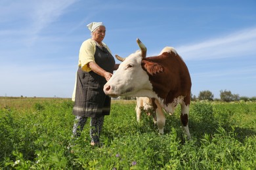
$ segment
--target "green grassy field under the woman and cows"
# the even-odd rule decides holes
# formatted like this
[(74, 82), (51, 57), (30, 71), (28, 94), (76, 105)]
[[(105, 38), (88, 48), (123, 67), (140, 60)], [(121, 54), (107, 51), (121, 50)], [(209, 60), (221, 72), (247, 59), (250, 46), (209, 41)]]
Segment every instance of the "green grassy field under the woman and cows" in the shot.
[(72, 139), (70, 99), (0, 97), (0, 168), (256, 169), (256, 103), (193, 102), (190, 141), (179, 107), (166, 114), (159, 135), (151, 117), (136, 121), (135, 105), (112, 100), (97, 148), (89, 144), (89, 122)]

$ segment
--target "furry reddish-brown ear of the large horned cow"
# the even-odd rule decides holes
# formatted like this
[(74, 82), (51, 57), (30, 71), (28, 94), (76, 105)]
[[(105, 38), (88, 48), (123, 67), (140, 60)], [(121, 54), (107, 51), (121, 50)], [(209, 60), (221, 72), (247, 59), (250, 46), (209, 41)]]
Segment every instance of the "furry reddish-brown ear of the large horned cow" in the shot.
[(142, 68), (150, 75), (156, 75), (157, 73), (163, 72), (163, 66), (146, 59), (142, 59), (141, 65)]

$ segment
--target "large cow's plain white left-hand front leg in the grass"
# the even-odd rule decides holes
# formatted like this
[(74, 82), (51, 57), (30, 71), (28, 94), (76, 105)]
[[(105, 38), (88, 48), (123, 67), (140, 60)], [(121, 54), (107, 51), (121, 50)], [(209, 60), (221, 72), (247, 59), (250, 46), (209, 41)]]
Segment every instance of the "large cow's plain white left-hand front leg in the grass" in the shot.
[(163, 114), (163, 109), (161, 109), (161, 105), (158, 100), (154, 100), (157, 105), (156, 108), (156, 124), (158, 124), (159, 133), (163, 134), (163, 128), (165, 126), (165, 115)]

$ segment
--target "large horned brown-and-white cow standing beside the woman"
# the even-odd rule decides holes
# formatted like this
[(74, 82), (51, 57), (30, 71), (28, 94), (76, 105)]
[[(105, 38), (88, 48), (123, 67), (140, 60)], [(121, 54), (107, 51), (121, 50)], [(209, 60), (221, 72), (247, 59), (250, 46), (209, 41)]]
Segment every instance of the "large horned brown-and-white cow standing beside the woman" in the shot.
[(173, 113), (181, 104), (181, 122), (190, 139), (188, 112), (190, 105), (191, 79), (186, 64), (172, 47), (165, 47), (158, 56), (146, 58), (146, 46), (137, 39), (140, 50), (130, 54), (116, 73), (104, 85), (106, 95), (150, 97), (155, 99), (159, 133), (163, 133), (166, 112)]

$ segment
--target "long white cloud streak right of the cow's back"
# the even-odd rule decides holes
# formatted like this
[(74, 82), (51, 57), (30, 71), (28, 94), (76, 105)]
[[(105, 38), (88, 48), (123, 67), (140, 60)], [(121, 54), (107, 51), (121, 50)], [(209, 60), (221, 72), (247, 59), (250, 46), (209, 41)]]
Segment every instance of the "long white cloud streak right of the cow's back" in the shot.
[(255, 46), (256, 28), (252, 28), (198, 44), (179, 46), (177, 51), (185, 60), (218, 59), (256, 54)]

